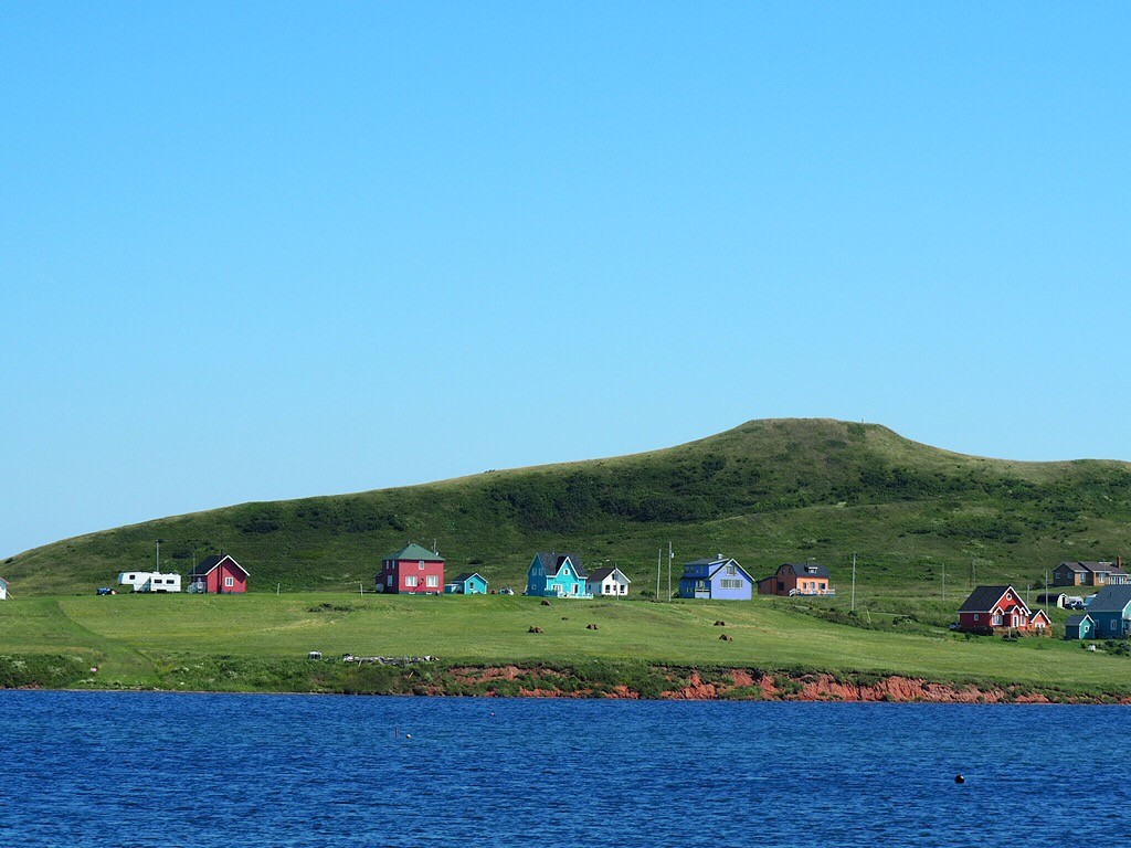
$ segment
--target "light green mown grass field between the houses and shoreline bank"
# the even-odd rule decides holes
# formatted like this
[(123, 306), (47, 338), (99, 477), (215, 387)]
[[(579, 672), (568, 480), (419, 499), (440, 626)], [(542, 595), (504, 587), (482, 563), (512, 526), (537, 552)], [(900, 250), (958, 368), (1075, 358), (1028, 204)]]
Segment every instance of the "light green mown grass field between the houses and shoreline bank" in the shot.
[[(299, 660), (320, 650), (328, 658), (349, 652), (434, 655), (449, 664), (477, 665), (640, 661), (1131, 693), (1131, 659), (1089, 654), (1079, 642), (1053, 639), (967, 639), (934, 623), (943, 621), (942, 613), (939, 605), (921, 605), (915, 617), (900, 622), (869, 611), (860, 616), (865, 626), (853, 626), (774, 598), (714, 604), (554, 600), (542, 606), (539, 599), (521, 596), (337, 592), (33, 597), (3, 604), (0, 655), (79, 657), (100, 667), (81, 684), (90, 686), (257, 689), (254, 682), (208, 677), (208, 669), (216, 658)], [(726, 626), (715, 626), (716, 620)], [(867, 628), (869, 621), (875, 629)], [(587, 630), (590, 623), (599, 629)], [(544, 632), (528, 633), (532, 625)], [(722, 632), (734, 641), (720, 641)], [(192, 670), (195, 664), (202, 664), (200, 670)]]

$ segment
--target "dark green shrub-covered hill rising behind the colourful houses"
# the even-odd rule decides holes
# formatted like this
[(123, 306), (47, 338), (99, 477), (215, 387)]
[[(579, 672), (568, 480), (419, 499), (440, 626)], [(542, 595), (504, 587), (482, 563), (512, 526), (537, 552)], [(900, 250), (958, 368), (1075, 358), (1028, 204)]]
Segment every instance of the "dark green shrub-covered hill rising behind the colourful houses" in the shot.
[[(1037, 585), (1062, 560), (1128, 551), (1131, 466), (1015, 462), (918, 444), (870, 424), (754, 421), (689, 444), (615, 459), (487, 471), (404, 488), (247, 503), (64, 539), (0, 569), (16, 596), (87, 594), (123, 569), (166, 570), (224, 551), (254, 590), (371, 585), (381, 556), (438, 542), (451, 573), (520, 586), (536, 550), (615, 564), (654, 586), (656, 553), (725, 552), (763, 576), (813, 559), (861, 598)], [(666, 582), (665, 582), (666, 589)], [(948, 592), (950, 594), (950, 592)]]

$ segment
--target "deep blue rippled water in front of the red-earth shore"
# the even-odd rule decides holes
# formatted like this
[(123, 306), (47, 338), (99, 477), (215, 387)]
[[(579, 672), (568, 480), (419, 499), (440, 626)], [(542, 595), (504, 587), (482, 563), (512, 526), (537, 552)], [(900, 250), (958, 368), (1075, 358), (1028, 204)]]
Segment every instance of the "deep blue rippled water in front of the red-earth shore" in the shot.
[(1129, 719), (0, 691), (0, 846), (1122, 846)]

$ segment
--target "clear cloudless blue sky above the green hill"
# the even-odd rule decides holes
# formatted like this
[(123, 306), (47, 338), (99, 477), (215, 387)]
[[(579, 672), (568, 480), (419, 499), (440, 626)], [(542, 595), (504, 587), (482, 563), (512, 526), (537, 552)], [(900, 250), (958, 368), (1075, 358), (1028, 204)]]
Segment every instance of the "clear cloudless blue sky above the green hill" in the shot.
[(6, 3), (0, 553), (761, 417), (1131, 459), (1125, 3)]

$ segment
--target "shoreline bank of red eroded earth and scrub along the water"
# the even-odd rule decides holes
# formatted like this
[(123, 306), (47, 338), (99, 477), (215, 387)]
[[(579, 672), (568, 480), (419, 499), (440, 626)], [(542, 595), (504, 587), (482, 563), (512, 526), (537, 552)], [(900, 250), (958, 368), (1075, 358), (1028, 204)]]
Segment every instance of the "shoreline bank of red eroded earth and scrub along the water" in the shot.
[[(15, 659), (15, 658), (11, 658)], [(58, 670), (61, 658), (53, 668)], [(938, 681), (903, 674), (674, 666), (632, 661), (594, 664), (447, 663), (357, 665), (339, 660), (277, 660), (261, 665), (225, 658), (198, 676), (184, 666), (152, 682), (92, 677), (72, 665), (66, 677), (23, 680), (0, 689), (189, 694), (338, 694), (428, 698), (543, 698), (649, 701), (779, 701), (798, 703), (1131, 704), (1128, 691), (1067, 690), (993, 681)], [(3, 669), (0, 669), (3, 670)], [(29, 669), (31, 670), (31, 669)]]

